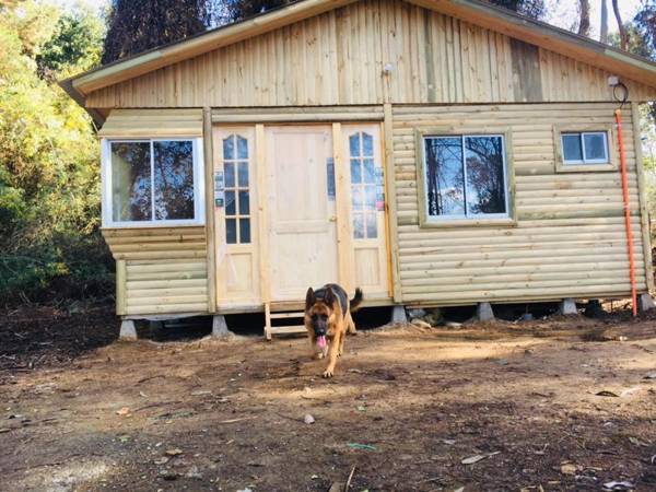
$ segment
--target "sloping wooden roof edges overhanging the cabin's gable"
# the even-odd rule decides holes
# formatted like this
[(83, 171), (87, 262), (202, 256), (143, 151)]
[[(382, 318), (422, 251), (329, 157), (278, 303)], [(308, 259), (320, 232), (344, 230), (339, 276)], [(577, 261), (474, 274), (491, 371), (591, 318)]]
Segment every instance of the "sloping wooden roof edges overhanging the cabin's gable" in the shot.
[[(254, 17), (118, 60), (73, 78), (60, 85), (77, 102), (93, 91), (113, 85), (259, 34), (319, 15), (359, 0), (302, 0)], [(656, 63), (593, 39), (525, 17), (479, 0), (405, 0), (480, 27), (546, 48), (578, 61), (656, 87)], [(93, 115), (92, 115), (93, 116)], [(97, 115), (96, 115), (97, 116)]]

